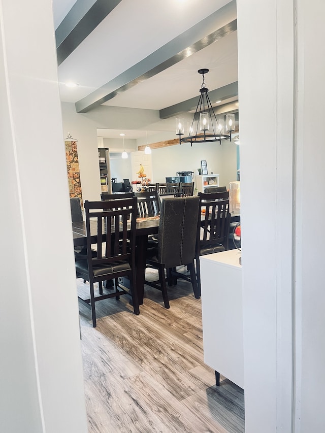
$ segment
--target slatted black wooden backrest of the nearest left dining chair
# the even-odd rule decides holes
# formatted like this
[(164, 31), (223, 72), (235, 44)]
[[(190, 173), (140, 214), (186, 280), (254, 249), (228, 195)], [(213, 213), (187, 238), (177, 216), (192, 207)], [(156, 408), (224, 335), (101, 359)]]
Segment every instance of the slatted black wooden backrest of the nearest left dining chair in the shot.
[[(135, 265), (135, 230), (137, 198), (125, 198), (102, 202), (85, 201), (87, 229), (87, 260), (89, 277), (95, 275), (96, 266), (116, 261), (128, 261)], [(118, 236), (115, 234), (118, 233)], [(94, 238), (95, 236), (95, 238)], [(96, 256), (91, 250), (96, 245)]]

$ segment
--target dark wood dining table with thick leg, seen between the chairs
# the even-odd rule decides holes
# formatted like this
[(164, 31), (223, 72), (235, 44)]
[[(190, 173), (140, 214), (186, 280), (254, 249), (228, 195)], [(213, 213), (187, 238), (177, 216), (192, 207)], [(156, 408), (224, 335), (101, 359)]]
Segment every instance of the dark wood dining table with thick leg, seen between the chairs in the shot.
[[(97, 228), (95, 222), (91, 224), (90, 232), (93, 232), (92, 241), (96, 242)], [(139, 305), (143, 304), (144, 280), (146, 273), (146, 251), (148, 236), (158, 233), (159, 216), (143, 216), (137, 218), (136, 225), (136, 290), (138, 292)], [(87, 245), (86, 224), (82, 222), (72, 223), (73, 242), (75, 247)], [(92, 236), (92, 235), (91, 235)]]

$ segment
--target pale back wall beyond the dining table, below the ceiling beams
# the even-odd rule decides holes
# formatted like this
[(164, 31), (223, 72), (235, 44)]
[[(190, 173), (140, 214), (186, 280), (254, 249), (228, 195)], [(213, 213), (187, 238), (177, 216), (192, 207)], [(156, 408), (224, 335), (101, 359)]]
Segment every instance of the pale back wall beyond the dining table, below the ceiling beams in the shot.
[[(124, 125), (120, 128), (125, 130), (141, 129), (152, 119), (155, 119), (158, 112), (152, 110), (121, 109), (116, 107), (115, 111), (108, 111), (112, 107), (99, 107), (86, 114), (77, 114), (74, 104), (62, 103), (63, 130), (78, 139), (78, 156), (80, 165), (80, 179), (83, 199), (99, 199), (100, 196), (100, 173), (98, 164), (98, 140), (95, 138), (96, 128), (105, 127), (116, 129), (121, 123), (119, 116), (122, 117)], [(124, 111), (123, 111), (124, 110)], [(136, 114), (137, 113), (137, 114)], [(138, 124), (135, 124), (135, 119)], [(113, 126), (114, 124), (114, 126)], [(174, 131), (157, 132), (155, 135), (148, 136), (148, 144), (165, 140), (175, 139)], [(123, 140), (106, 139), (103, 140), (104, 147), (123, 148)], [(146, 140), (124, 139), (124, 146), (127, 151), (138, 149), (138, 146), (146, 144)], [(201, 160), (207, 160), (208, 171), (220, 175), (220, 185), (229, 186), (229, 182), (237, 179), (237, 145), (232, 141), (224, 140), (221, 145), (213, 143), (169, 146), (166, 148), (152, 150), (152, 182), (166, 182), (166, 176), (176, 176), (178, 171), (192, 171), (194, 176), (198, 175), (197, 169), (201, 167)], [(112, 157), (111, 175), (118, 181), (124, 178), (132, 179), (131, 165), (118, 161)], [(129, 171), (128, 171), (129, 169)], [(89, 197), (89, 198), (88, 198)]]

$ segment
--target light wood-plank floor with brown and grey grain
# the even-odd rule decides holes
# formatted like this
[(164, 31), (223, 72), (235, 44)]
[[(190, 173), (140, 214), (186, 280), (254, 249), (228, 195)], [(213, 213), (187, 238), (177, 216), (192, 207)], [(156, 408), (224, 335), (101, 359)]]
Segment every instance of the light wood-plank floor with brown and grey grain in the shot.
[(244, 391), (222, 376), (215, 386), (203, 362), (201, 300), (178, 281), (169, 287), (169, 310), (148, 286), (139, 316), (125, 295), (96, 303), (96, 328), (79, 304), (89, 433), (245, 430)]

